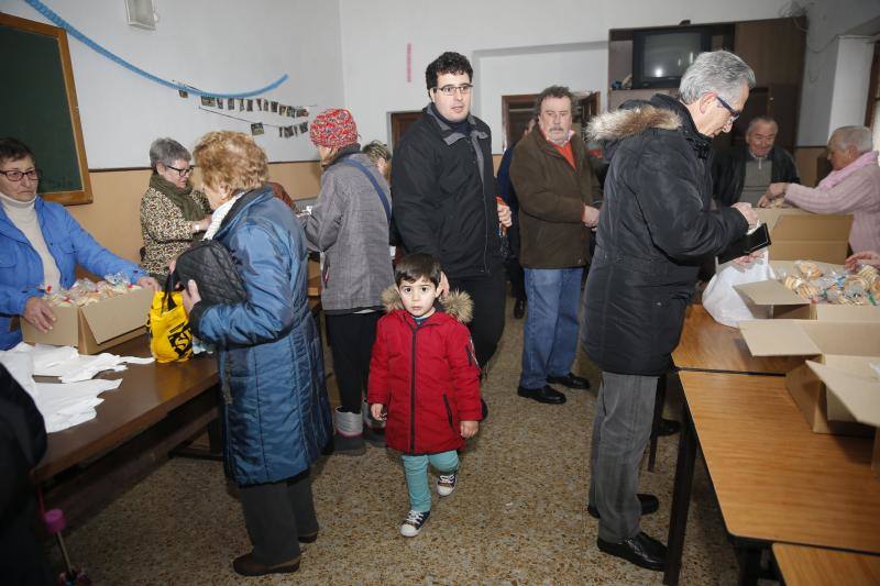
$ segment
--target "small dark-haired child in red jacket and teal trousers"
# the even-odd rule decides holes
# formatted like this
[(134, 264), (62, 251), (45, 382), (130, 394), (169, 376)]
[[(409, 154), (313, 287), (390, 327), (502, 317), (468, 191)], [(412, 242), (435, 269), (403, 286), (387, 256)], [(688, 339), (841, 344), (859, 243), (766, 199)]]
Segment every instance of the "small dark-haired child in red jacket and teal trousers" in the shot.
[(367, 402), (384, 419), (385, 442), (403, 452), (409, 515), (400, 533), (419, 534), (431, 511), (428, 464), (438, 472), (437, 493), (452, 494), (458, 450), (476, 434), (482, 419), (480, 366), (464, 325), (473, 303), (452, 292), (435, 308), (440, 263), (410, 254), (394, 270), (396, 287), (383, 294), (387, 316), (378, 321), (370, 363)]

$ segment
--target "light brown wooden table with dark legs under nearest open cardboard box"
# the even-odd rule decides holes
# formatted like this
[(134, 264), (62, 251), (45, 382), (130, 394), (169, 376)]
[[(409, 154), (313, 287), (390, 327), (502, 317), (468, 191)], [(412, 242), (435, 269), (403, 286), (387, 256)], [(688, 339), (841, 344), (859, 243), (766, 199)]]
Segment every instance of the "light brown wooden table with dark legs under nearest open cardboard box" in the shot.
[(813, 433), (778, 376), (682, 372), (684, 419), (664, 582), (676, 584), (696, 445), (725, 528), (752, 584), (760, 552), (789, 542), (880, 553), (872, 444)]

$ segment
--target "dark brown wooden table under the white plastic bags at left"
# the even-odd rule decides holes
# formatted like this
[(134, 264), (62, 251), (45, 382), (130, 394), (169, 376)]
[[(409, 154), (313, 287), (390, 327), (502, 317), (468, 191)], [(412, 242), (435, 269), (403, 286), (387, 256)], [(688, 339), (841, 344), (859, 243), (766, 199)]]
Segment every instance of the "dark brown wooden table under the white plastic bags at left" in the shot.
[[(122, 356), (150, 356), (145, 335), (112, 351)], [(219, 380), (215, 356), (197, 356), (185, 363), (130, 365), (127, 371), (105, 373), (100, 377), (122, 378), (122, 384), (101, 395), (103, 402), (96, 408), (98, 417), (48, 435), (46, 455), (35, 471), (37, 480), (117, 447)]]

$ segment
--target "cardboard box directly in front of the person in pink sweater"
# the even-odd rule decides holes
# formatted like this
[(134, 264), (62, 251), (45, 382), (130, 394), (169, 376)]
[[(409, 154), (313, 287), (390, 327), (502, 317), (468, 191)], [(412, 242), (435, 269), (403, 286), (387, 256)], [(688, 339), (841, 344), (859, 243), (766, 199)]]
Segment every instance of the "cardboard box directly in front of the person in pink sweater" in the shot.
[(818, 214), (798, 208), (760, 208), (755, 211), (770, 229), (771, 259), (812, 258), (837, 264), (846, 261), (851, 214)]

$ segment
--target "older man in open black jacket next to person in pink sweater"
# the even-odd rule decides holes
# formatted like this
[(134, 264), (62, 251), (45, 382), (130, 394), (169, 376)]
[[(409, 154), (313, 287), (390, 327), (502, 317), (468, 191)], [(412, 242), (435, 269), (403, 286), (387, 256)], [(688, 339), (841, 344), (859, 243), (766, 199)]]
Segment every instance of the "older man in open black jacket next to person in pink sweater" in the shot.
[(746, 144), (716, 154), (712, 162), (715, 201), (758, 203), (767, 186), (784, 181), (800, 184), (791, 153), (776, 145), (779, 125), (769, 115), (755, 117), (746, 130)]

